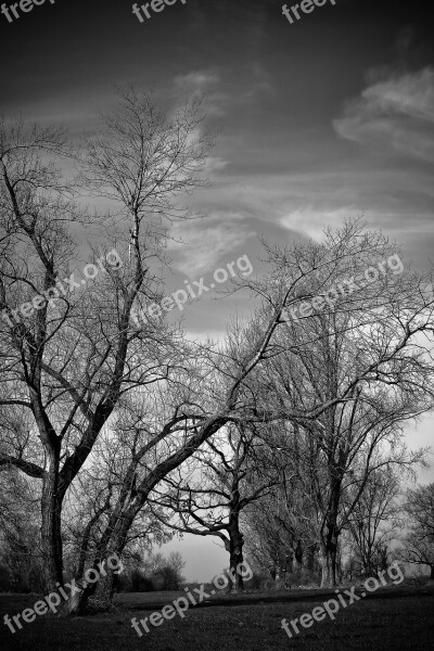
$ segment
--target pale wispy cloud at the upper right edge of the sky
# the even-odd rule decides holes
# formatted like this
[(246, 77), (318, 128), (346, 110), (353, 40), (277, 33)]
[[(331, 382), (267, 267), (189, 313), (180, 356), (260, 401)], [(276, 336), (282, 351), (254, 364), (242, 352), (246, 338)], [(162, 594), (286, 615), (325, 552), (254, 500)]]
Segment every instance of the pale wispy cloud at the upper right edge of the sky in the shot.
[(434, 69), (392, 76), (368, 86), (333, 120), (337, 133), (371, 146), (434, 162)]

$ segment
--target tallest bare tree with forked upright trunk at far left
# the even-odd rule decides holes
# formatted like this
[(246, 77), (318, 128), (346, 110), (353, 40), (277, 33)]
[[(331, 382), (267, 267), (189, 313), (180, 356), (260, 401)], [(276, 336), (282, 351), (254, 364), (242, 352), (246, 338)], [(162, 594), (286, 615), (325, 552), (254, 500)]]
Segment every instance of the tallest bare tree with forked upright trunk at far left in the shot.
[(79, 257), (73, 229), (85, 216), (52, 159), (65, 152), (62, 133), (0, 124), (0, 405), (20, 406), (33, 420), (28, 445), (10, 438), (0, 465), (41, 480), (51, 590), (62, 584), (68, 488), (119, 398), (166, 379), (174, 363), (170, 329), (149, 318), (138, 330), (130, 316), (158, 295), (152, 269), (164, 245), (161, 220), (177, 213), (177, 196), (203, 182), (209, 142), (201, 119), (196, 104), (168, 116), (149, 95), (129, 90), (106, 118), (106, 136), (88, 143), (81, 182), (112, 200), (113, 209), (84, 284), (71, 271)]

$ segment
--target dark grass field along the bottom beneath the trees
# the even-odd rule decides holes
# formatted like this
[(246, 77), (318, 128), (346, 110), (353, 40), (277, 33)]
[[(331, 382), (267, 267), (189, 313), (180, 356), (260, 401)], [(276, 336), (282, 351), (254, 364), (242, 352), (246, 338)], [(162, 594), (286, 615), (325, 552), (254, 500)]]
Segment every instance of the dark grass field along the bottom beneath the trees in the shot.
[[(179, 593), (180, 596), (181, 593)], [(186, 617), (164, 622), (138, 637), (131, 617), (149, 616), (176, 595), (125, 596), (116, 611), (71, 620), (37, 617), (14, 635), (3, 614), (30, 608), (36, 597), (0, 595), (0, 648), (8, 651), (431, 651), (434, 648), (434, 588), (396, 586), (379, 590), (329, 618), (302, 629), (291, 640), (281, 628), (288, 621), (310, 613), (333, 593), (285, 592), (240, 596), (190, 609)], [(271, 602), (269, 601), (271, 600)]]

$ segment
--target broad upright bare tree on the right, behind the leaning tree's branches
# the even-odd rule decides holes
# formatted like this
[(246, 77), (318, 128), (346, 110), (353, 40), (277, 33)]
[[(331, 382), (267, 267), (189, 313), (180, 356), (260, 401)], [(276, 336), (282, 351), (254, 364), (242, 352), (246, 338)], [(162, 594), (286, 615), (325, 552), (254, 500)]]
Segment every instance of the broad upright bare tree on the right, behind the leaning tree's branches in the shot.
[[(302, 291), (293, 303), (306, 305), (299, 314), (282, 310), (285, 334), (276, 335), (244, 395), (276, 413), (285, 407), (308, 412), (318, 403), (329, 406), (317, 419), (293, 420), (293, 425), (305, 446), (307, 468), (301, 477), (315, 507), (322, 585), (335, 585), (339, 537), (370, 475), (390, 463), (408, 467), (423, 458), (423, 451), (407, 454), (403, 425), (433, 404), (432, 305), (422, 295), (423, 279), (404, 272), (388, 241), (361, 233), (357, 221), (329, 233), (321, 244), (273, 248), (269, 256), (271, 273), (251, 281), (253, 291), (264, 296), (268, 310), (279, 310), (288, 304), (295, 277)], [(370, 271), (385, 260), (390, 276)], [(371, 278), (356, 294), (347, 292), (360, 276), (375, 276), (375, 282)], [(335, 289), (328, 301), (324, 285), (342, 291)], [(245, 340), (254, 339), (255, 331)], [(381, 462), (379, 451), (386, 452)], [(349, 492), (353, 498), (344, 506)]]

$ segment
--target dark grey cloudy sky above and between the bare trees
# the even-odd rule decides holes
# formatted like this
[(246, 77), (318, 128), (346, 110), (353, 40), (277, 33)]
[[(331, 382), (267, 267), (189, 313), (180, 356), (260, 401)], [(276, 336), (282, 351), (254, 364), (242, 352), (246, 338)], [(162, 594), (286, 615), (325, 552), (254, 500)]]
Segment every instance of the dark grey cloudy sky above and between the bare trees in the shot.
[[(206, 127), (217, 132), (210, 186), (191, 197), (204, 217), (173, 227), (183, 243), (170, 245), (170, 286), (245, 254), (256, 272), (258, 237), (320, 238), (358, 215), (427, 266), (432, 0), (327, 1), (293, 24), (277, 0), (177, 0), (150, 13), (141, 23), (129, 0), (46, 0), (12, 23), (0, 14), (0, 107), (62, 123), (75, 139), (94, 133), (114, 85), (153, 88), (166, 103), (204, 95)], [(221, 336), (231, 311), (248, 307), (215, 298), (186, 307), (192, 335)], [(411, 427), (409, 445), (430, 445), (432, 425), (426, 417)], [(433, 471), (420, 477), (433, 481)], [(189, 577), (219, 572), (225, 553), (193, 544), (181, 549)]]

